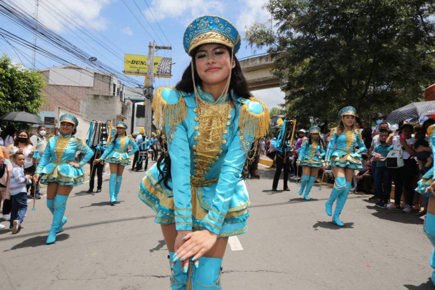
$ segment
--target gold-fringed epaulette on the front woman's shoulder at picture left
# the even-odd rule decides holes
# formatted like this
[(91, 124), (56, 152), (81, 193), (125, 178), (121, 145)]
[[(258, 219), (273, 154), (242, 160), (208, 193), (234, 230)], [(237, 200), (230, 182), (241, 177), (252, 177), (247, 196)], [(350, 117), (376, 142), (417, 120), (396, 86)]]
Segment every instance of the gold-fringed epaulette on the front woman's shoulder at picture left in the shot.
[(164, 126), (172, 127), (185, 119), (187, 106), (181, 93), (177, 90), (179, 94), (178, 101), (176, 103), (168, 103), (161, 95), (162, 90), (168, 88), (176, 90), (174, 87), (170, 86), (163, 86), (156, 89), (151, 107), (154, 111), (155, 120), (158, 123), (162, 122)]

